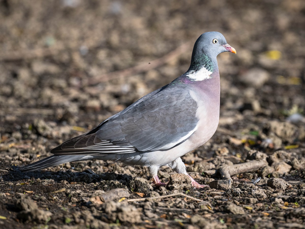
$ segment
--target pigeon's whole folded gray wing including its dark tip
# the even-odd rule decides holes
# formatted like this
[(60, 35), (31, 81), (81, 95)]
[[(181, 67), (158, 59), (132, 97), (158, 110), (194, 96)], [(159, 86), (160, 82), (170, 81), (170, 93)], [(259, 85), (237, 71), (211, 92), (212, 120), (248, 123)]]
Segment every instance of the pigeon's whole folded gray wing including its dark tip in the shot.
[(197, 103), (187, 89), (161, 89), (51, 152), (102, 155), (167, 150), (195, 132), (196, 111)]

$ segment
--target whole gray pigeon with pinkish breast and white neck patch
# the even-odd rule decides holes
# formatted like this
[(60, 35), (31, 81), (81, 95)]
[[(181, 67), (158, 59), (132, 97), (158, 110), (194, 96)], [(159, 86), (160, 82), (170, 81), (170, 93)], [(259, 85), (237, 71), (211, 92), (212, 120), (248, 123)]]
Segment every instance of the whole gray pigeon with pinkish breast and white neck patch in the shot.
[[(189, 176), (181, 156), (206, 143), (218, 126), (220, 76), (216, 57), (222, 52), (236, 54), (221, 33), (203, 33), (183, 75), (52, 149), (54, 155), (20, 170), (99, 159), (146, 166), (156, 187), (166, 186), (158, 177), (161, 166)], [(193, 187), (206, 186), (189, 177)]]

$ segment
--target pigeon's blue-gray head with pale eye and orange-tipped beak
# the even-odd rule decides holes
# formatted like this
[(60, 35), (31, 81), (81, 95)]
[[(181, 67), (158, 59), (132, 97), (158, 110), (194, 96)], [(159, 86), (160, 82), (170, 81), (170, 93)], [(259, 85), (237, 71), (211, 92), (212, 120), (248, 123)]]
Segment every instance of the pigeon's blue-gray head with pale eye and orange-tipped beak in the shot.
[(227, 44), (226, 38), (219, 32), (206, 32), (202, 34), (195, 42), (191, 66), (199, 64), (200, 60), (208, 57), (210, 60), (216, 60), (219, 53), (232, 52), (236, 50)]

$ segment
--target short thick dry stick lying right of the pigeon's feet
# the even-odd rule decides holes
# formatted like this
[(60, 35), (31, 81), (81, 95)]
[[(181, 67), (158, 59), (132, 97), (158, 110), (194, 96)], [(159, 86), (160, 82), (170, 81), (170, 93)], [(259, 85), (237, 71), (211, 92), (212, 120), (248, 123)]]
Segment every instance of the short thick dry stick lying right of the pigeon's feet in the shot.
[(207, 170), (207, 171), (204, 171), (204, 173), (211, 175), (211, 176), (216, 176), (217, 173), (220, 173), (222, 179), (228, 180), (228, 179), (231, 179), (232, 175), (250, 172), (250, 171), (256, 171), (257, 169), (260, 169), (261, 167), (264, 167), (266, 165), (268, 165), (266, 159), (254, 160), (251, 162), (223, 166), (217, 170), (214, 170), (214, 169)]

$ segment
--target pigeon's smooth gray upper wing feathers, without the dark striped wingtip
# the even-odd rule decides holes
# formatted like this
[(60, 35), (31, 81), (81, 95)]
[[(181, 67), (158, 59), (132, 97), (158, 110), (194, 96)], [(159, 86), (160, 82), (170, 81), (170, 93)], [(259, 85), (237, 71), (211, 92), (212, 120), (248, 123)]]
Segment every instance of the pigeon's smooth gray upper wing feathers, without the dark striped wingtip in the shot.
[[(196, 111), (197, 103), (187, 90), (162, 91), (105, 123), (96, 135), (110, 142), (123, 137), (138, 151), (163, 150), (186, 140), (183, 137), (198, 123)], [(113, 133), (117, 125), (119, 131)]]

